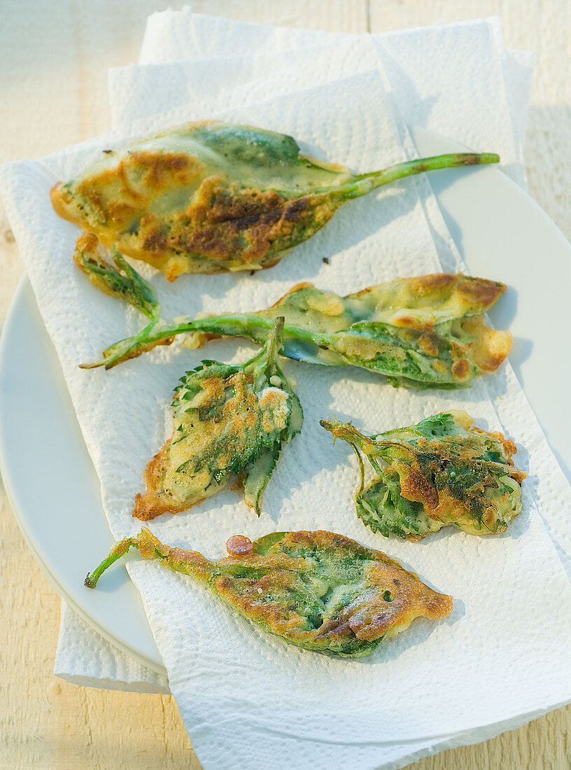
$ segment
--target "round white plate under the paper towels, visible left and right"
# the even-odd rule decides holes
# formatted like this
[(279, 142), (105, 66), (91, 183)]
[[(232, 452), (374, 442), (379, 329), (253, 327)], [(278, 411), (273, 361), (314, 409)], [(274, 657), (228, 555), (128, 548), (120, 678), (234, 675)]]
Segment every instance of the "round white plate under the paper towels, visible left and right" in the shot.
[[(424, 130), (416, 129), (414, 136), (421, 156), (463, 149)], [(440, 171), (431, 182), (470, 273), (510, 287), (490, 316), (496, 327), (513, 332), (509, 359), (571, 479), (569, 420), (562, 419), (571, 358), (561, 342), (571, 246), (498, 169)], [(0, 464), (18, 524), (55, 590), (112, 644), (165, 674), (139, 592), (125, 569), (110, 571), (98, 591), (83, 585), (112, 537), (99, 480), (26, 279), (0, 341)]]

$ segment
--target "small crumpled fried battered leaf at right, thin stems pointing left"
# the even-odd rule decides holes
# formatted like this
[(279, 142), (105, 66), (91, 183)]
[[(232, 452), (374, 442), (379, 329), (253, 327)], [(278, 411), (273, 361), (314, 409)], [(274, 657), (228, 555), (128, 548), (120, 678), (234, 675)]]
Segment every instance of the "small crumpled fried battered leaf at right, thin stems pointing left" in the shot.
[[(513, 464), (516, 445), (474, 427), (466, 412), (435, 414), (378, 436), (350, 423), (321, 424), (359, 458), (357, 515), (373, 532), (420, 540), (455, 524), (468, 534), (494, 534), (521, 511), (526, 474)], [(378, 474), (367, 487), (362, 456)]]

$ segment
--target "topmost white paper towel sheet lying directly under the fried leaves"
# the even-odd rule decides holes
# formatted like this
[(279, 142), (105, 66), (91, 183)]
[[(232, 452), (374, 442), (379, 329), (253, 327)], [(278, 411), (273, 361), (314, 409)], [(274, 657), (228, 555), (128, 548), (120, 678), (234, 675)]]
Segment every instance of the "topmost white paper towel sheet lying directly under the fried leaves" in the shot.
[[(366, 116), (356, 109), (362, 103), (369, 108)], [(286, 130), (306, 142), (304, 149), (360, 170), (403, 154), (379, 75), (371, 73), (223, 117)], [(56, 179), (71, 176), (112, 144), (106, 137), (43, 162), (12, 164), (2, 192), (102, 480), (110, 527), (119, 536), (139, 529), (129, 511), (145, 462), (165, 437), (165, 402), (182, 370), (199, 356), (173, 346), (109, 372), (76, 368), (140, 325), (134, 313), (72, 268), (76, 229), (48, 203)], [(160, 276), (154, 280), (165, 298), (165, 317), (265, 306), (303, 278), (330, 290), (356, 290), (439, 269), (425, 223), (414, 188), (405, 181), (349, 203), (322, 233), (261, 276), (186, 276), (175, 286)], [(323, 256), (331, 258), (329, 266)], [(245, 355), (244, 348), (235, 351), (235, 341), (221, 342), (205, 355)], [(184, 577), (132, 561), (130, 573), (205, 767), (309, 762), (319, 768), (345, 760), (373, 768), (389, 758), (386, 742), (418, 746), (496, 721), (507, 727), (571, 698), (571, 589), (527, 488), (524, 513), (509, 533), (493, 540), (457, 533), (426, 544), (384, 541), (356, 519), (355, 467), (345, 448), (332, 447), (319, 427), (319, 418), (334, 412), (366, 430), (382, 430), (446, 409), (451, 401), (468, 408), (480, 424), (499, 427), (483, 383), (451, 399), (450, 393), (392, 390), (361, 370), (295, 363), (289, 369), (299, 379), (306, 423), (272, 478), (262, 517), (252, 517), (226, 491), (187, 514), (153, 521), (152, 530), (163, 541), (209, 556), (221, 554), (225, 538), (237, 531), (252, 537), (289, 528), (342, 531), (388, 550), (435, 588), (452, 593), (455, 610), (440, 624), (416, 623), (369, 659), (336, 661), (268, 638)], [(487, 737), (487, 728), (480, 734)]]

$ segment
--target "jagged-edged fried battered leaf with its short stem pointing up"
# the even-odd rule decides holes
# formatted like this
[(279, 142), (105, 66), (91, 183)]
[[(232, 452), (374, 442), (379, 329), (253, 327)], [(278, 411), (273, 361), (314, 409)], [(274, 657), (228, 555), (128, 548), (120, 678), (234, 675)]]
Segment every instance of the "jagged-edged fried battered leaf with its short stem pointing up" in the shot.
[(282, 445), (302, 428), (302, 407), (278, 363), (283, 318), (262, 350), (241, 367), (218, 361), (181, 378), (172, 401), (172, 437), (145, 470), (147, 491), (133, 516), (179, 513), (218, 492), (235, 475), (259, 514)]

